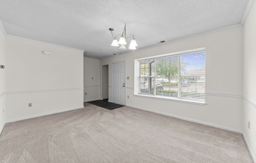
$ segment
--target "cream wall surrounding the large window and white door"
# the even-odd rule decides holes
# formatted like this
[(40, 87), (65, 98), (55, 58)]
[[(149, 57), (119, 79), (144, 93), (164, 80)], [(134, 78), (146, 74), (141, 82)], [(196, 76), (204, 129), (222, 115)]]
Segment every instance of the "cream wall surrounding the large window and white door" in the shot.
[[(206, 51), (205, 101), (207, 105), (199, 106), (133, 95), (134, 59), (201, 47), (205, 47)], [(112, 63), (126, 62), (126, 76), (130, 77), (126, 80), (126, 97), (130, 96), (126, 99), (128, 106), (241, 132), (242, 54), (243, 27), (236, 27), (105, 58), (100, 64), (109, 65), (109, 85), (112, 85)], [(108, 96), (111, 101), (111, 87)]]

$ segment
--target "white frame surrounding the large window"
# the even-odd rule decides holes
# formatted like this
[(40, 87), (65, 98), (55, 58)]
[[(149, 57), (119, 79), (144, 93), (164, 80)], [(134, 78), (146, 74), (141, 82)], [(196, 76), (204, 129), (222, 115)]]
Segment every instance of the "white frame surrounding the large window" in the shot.
[[(176, 53), (168, 53), (168, 54), (162, 54), (162, 55), (157, 55), (157, 56), (151, 56), (151, 57), (146, 57), (146, 58), (139, 58), (134, 60), (134, 96), (138, 97), (143, 97), (143, 98), (152, 98), (152, 99), (158, 99), (158, 100), (168, 100), (168, 101), (176, 101), (176, 102), (181, 102), (181, 103), (190, 103), (190, 104), (195, 104), (195, 105), (205, 105), (205, 99), (203, 100), (198, 100), (198, 99), (188, 99), (188, 98), (180, 98), (180, 97), (168, 97), (168, 96), (156, 96), (155, 94), (150, 95), (150, 94), (140, 94), (139, 93), (139, 62), (141, 60), (148, 60), (152, 58), (160, 58), (160, 57), (166, 57), (166, 56), (171, 56), (171, 55), (181, 55), (181, 54), (189, 54), (189, 53), (196, 53), (200, 51), (205, 51), (205, 48), (198, 48), (198, 49), (192, 49), (188, 51), (180, 51)], [(206, 52), (205, 52), (206, 53)], [(178, 91), (179, 92), (179, 91)], [(205, 91), (206, 92), (206, 91)]]

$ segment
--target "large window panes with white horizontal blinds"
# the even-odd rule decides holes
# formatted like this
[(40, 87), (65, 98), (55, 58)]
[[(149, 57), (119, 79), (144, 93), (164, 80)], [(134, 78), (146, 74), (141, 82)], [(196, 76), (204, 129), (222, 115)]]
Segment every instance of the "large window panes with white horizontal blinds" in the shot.
[(139, 94), (205, 101), (205, 51), (139, 60)]

